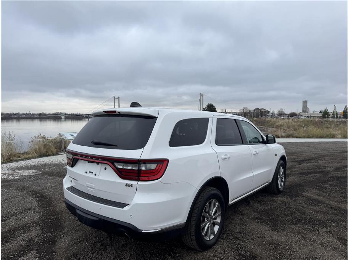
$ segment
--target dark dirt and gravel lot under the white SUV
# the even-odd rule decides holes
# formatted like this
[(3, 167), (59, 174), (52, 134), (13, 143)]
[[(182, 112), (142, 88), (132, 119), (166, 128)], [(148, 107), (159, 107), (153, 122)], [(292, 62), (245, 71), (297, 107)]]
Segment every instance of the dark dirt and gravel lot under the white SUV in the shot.
[(284, 143), (281, 195), (258, 192), (227, 211), (219, 242), (138, 242), (81, 224), (65, 208), (63, 156), (2, 165), (2, 259), (347, 259), (347, 142)]

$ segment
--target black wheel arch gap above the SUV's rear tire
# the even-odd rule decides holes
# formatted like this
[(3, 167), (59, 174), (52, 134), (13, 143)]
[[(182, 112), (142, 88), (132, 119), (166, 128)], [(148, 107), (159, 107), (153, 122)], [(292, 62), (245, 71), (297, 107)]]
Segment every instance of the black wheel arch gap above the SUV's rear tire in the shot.
[(227, 181), (224, 178), (222, 178), (221, 176), (212, 177), (212, 178), (208, 179), (206, 182), (204, 182), (204, 184), (199, 188), (198, 192), (196, 193), (196, 196), (192, 201), (186, 222), (188, 221), (188, 219), (190, 217), (190, 214), (191, 214), (192, 209), (193, 209), (193, 205), (195, 205), (197, 197), (199, 196), (199, 194), (201, 193), (201, 191), (205, 187), (213, 187), (213, 188), (218, 189), (224, 198), (225, 208), (227, 208), (228, 203), (229, 203), (229, 198), (230, 198)]

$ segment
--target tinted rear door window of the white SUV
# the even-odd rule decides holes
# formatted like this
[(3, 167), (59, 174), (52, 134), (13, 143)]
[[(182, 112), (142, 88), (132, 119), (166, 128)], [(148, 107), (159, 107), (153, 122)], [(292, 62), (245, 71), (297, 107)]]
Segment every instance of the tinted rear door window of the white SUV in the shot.
[(236, 145), (242, 144), (242, 137), (237, 127), (236, 120), (218, 118), (216, 120), (216, 145)]

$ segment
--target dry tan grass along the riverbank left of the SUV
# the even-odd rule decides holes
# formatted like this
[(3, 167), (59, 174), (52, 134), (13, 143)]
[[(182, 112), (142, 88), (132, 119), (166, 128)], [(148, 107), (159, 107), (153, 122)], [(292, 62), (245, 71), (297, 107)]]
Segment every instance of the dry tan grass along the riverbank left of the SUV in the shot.
[(8, 143), (1, 143), (1, 163), (55, 155), (62, 151), (62, 142), (64, 142), (64, 149), (68, 147), (70, 143), (69, 140), (62, 140), (61, 138), (47, 138), (48, 137), (41, 134), (32, 137), (32, 140), (29, 142), (28, 150), (23, 152), (22, 142), (13, 142), (18, 141), (13, 132), (1, 131), (1, 141), (10, 141)]

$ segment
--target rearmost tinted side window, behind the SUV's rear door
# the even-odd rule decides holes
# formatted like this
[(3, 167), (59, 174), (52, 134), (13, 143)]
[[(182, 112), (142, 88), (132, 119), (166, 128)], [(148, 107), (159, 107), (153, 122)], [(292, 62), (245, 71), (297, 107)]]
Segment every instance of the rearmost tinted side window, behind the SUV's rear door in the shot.
[(170, 147), (203, 144), (208, 130), (208, 118), (190, 118), (180, 120), (175, 124)]

